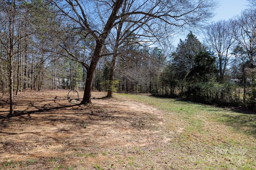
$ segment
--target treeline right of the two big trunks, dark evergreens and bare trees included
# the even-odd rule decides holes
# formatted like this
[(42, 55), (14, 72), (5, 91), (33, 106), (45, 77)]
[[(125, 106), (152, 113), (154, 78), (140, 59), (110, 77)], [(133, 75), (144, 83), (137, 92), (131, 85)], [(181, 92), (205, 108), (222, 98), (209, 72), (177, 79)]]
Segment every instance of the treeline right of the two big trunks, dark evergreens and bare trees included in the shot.
[[(190, 32), (171, 55), (155, 47), (140, 49), (137, 59), (120, 57), (115, 74), (117, 92), (255, 109), (255, 19), (255, 10), (248, 9), (233, 20), (211, 23), (204, 30), (205, 45)], [(107, 65), (102, 75), (106, 74)]]

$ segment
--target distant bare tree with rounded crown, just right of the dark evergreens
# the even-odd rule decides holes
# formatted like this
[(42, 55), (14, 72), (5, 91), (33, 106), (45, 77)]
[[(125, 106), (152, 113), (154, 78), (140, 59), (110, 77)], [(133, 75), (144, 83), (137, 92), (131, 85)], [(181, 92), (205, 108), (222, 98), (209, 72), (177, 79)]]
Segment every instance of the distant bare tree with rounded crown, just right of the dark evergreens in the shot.
[(204, 31), (206, 42), (218, 55), (220, 81), (223, 80), (228, 64), (230, 64), (230, 48), (235, 42), (232, 20), (210, 23)]

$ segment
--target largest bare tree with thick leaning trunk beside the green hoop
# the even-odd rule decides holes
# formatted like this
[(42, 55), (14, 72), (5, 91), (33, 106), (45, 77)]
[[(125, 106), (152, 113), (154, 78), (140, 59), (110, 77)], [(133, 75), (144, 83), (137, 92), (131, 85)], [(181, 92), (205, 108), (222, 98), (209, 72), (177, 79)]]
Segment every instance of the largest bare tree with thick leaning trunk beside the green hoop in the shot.
[[(60, 0), (51, 3), (64, 16), (75, 21), (75, 27), (85, 37), (93, 37), (96, 44), (90, 63), (81, 63), (87, 70), (81, 104), (91, 103), (92, 82), (96, 65), (102, 57), (102, 48), (110, 31), (120, 22), (140, 25), (137, 33), (147, 35), (144, 41), (149, 42), (163, 32), (168, 32), (170, 26), (198, 25), (212, 16), (216, 6), (216, 2), (210, 0)], [(125, 4), (130, 4), (129, 8)], [(122, 12), (123, 8), (127, 8), (125, 13)], [(127, 16), (127, 19), (121, 20), (123, 16)]]

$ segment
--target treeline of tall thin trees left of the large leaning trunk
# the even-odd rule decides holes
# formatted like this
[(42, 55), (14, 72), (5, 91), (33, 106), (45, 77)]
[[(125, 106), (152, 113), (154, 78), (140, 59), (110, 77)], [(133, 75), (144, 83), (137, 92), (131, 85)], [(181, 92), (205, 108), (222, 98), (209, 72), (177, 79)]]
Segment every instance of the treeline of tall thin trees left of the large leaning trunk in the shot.
[[(52, 6), (41, 0), (0, 2), (0, 87), (2, 94), (22, 90), (77, 88), (86, 73), (60, 47), (65, 32)], [(63, 27), (69, 29), (68, 26)], [(56, 38), (58, 37), (58, 38)], [(72, 42), (70, 37), (70, 42)], [(65, 45), (68, 39), (65, 40)], [(74, 50), (78, 50), (78, 47)]]

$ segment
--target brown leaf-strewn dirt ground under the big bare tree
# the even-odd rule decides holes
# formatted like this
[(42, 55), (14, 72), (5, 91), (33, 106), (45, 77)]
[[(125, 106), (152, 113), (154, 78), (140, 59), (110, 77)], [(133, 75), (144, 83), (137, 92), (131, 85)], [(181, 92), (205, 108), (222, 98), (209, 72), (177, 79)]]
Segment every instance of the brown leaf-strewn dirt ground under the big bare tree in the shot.
[(161, 157), (150, 160), (170, 140), (162, 135), (161, 111), (117, 94), (102, 98), (102, 92), (80, 106), (67, 94), (20, 92), (13, 117), (8, 96), (1, 98), (0, 169), (165, 169)]

